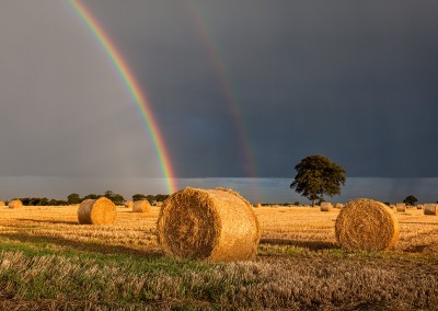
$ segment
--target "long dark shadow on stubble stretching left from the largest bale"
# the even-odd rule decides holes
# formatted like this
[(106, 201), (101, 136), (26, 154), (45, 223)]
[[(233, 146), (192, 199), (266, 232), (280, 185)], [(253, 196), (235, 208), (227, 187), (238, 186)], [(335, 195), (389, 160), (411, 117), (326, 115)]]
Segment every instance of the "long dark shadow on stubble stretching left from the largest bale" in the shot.
[(81, 251), (81, 252), (93, 252), (100, 254), (114, 254), (114, 255), (131, 255), (136, 257), (142, 258), (153, 258), (163, 256), (163, 252), (160, 250), (147, 250), (140, 251), (135, 249), (129, 249), (126, 246), (116, 246), (116, 245), (106, 245), (99, 243), (87, 243), (79, 241), (71, 241), (59, 237), (46, 237), (46, 235), (36, 235), (28, 234), (26, 232), (16, 232), (16, 233), (1, 233), (1, 238), (7, 238), (12, 241), (19, 242), (27, 242), (27, 243), (47, 243), (53, 245), (59, 245), (62, 247)]

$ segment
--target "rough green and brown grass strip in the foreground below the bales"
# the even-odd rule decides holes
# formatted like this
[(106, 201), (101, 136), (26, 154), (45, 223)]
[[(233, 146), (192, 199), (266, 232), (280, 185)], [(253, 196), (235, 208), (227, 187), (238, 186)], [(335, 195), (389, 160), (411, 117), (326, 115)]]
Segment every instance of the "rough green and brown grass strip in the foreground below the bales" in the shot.
[(0, 308), (376, 310), (438, 306), (434, 258), (262, 244), (255, 261), (206, 264), (0, 240)]

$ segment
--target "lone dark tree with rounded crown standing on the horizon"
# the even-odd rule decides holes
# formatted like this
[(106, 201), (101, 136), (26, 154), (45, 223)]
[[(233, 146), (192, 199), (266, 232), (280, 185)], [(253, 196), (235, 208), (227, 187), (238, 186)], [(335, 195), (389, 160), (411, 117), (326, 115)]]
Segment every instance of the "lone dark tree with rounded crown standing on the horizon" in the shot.
[(320, 154), (306, 157), (295, 169), (290, 188), (310, 199), (312, 206), (316, 199), (324, 200), (324, 195), (341, 194), (341, 185), (345, 185), (345, 170)]

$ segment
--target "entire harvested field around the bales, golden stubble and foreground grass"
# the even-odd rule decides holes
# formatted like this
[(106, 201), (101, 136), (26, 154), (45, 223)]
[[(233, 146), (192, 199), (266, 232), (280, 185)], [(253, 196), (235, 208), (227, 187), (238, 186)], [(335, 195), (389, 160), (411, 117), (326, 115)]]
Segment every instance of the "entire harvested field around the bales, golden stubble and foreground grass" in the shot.
[(438, 217), (397, 214), (389, 252), (341, 250), (338, 210), (254, 208), (250, 262), (165, 257), (149, 215), (117, 208), (111, 226), (81, 226), (76, 206), (0, 207), (4, 310), (418, 310), (438, 306)]

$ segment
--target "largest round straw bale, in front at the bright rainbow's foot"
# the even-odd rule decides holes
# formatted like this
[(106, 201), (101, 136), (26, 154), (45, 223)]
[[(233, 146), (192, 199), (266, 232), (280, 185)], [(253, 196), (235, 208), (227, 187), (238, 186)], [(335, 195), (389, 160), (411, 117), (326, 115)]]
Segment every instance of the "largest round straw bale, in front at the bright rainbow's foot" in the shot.
[(157, 232), (168, 255), (208, 262), (251, 260), (261, 238), (250, 203), (222, 188), (173, 194), (161, 209)]

